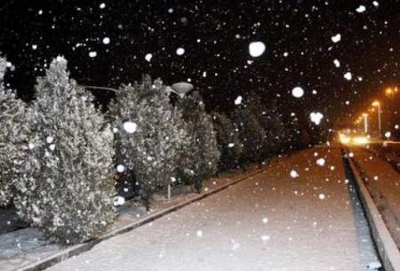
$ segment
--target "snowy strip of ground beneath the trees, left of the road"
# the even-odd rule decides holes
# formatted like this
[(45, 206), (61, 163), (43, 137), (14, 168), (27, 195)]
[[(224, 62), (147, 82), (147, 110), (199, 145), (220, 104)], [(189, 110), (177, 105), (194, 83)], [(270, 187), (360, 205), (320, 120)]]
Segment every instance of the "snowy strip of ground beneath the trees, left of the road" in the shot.
[[(243, 174), (241, 171), (234, 171), (222, 174), (218, 178), (207, 179), (204, 181), (202, 195), (213, 189), (218, 189), (231, 182), (235, 182), (236, 179), (254, 174), (256, 171), (259, 171), (259, 169), (256, 166), (252, 166), (246, 174)], [(150, 212), (147, 212), (140, 203), (125, 203), (120, 210), (118, 219), (116, 219), (106, 235), (118, 233), (121, 230), (132, 227), (132, 225), (136, 225), (140, 221), (151, 218), (156, 213), (162, 213), (169, 208), (185, 203), (198, 196), (196, 193), (174, 195), (175, 190), (172, 190), (172, 192), (172, 199), (170, 201), (159, 200), (153, 202)], [(39, 262), (44, 263), (46, 260), (52, 260), (55, 257), (65, 259), (68, 253), (87, 250), (88, 248), (84, 246), (87, 246), (87, 243), (68, 247), (57, 243), (48, 243), (42, 232), (35, 227), (16, 230), (0, 235), (0, 271), (36, 267)]]

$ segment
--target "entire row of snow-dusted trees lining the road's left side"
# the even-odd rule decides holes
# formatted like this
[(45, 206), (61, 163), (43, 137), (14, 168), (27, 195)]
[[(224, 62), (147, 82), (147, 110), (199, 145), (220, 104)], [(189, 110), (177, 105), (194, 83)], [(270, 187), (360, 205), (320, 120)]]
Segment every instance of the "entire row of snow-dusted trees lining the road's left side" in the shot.
[(160, 189), (200, 192), (217, 171), (308, 141), (298, 122), (254, 94), (229, 114), (208, 114), (198, 92), (173, 100), (161, 80), (145, 76), (122, 85), (104, 116), (69, 79), (62, 57), (37, 79), (28, 105), (5, 90), (5, 69), (0, 59), (0, 205), (12, 203), (21, 219), (63, 243), (98, 236), (115, 219), (116, 176), (134, 179), (149, 208)]

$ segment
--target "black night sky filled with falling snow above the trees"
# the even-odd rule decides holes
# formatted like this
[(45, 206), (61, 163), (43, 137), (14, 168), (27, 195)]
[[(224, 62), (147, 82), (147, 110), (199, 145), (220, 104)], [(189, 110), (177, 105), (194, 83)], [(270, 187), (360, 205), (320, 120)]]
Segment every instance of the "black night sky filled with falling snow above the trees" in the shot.
[[(7, 83), (24, 100), (44, 64), (64, 55), (80, 84), (117, 87), (149, 73), (165, 84), (191, 80), (209, 109), (229, 110), (254, 91), (287, 112), (336, 119), (400, 82), (399, 11), (394, 0), (2, 0), (0, 52), (15, 66)], [(267, 47), (258, 58), (248, 49), (255, 41)], [(305, 91), (300, 99), (295, 86)]]

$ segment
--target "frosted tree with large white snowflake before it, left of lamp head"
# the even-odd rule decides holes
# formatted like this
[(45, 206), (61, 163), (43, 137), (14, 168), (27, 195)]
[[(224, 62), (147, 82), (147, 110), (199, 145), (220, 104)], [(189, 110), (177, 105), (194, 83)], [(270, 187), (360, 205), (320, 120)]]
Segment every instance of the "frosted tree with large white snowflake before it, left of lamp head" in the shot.
[(148, 208), (152, 193), (176, 179), (182, 155), (188, 150), (188, 133), (161, 80), (152, 83), (146, 76), (142, 84), (123, 89), (110, 106), (125, 159), (117, 167), (133, 169)]

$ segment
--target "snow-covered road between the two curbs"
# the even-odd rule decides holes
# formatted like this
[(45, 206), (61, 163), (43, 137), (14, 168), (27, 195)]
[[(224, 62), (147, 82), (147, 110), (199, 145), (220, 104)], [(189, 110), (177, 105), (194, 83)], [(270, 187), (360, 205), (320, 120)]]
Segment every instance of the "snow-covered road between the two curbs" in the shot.
[(367, 270), (377, 259), (345, 179), (339, 148), (308, 149), (51, 270)]

